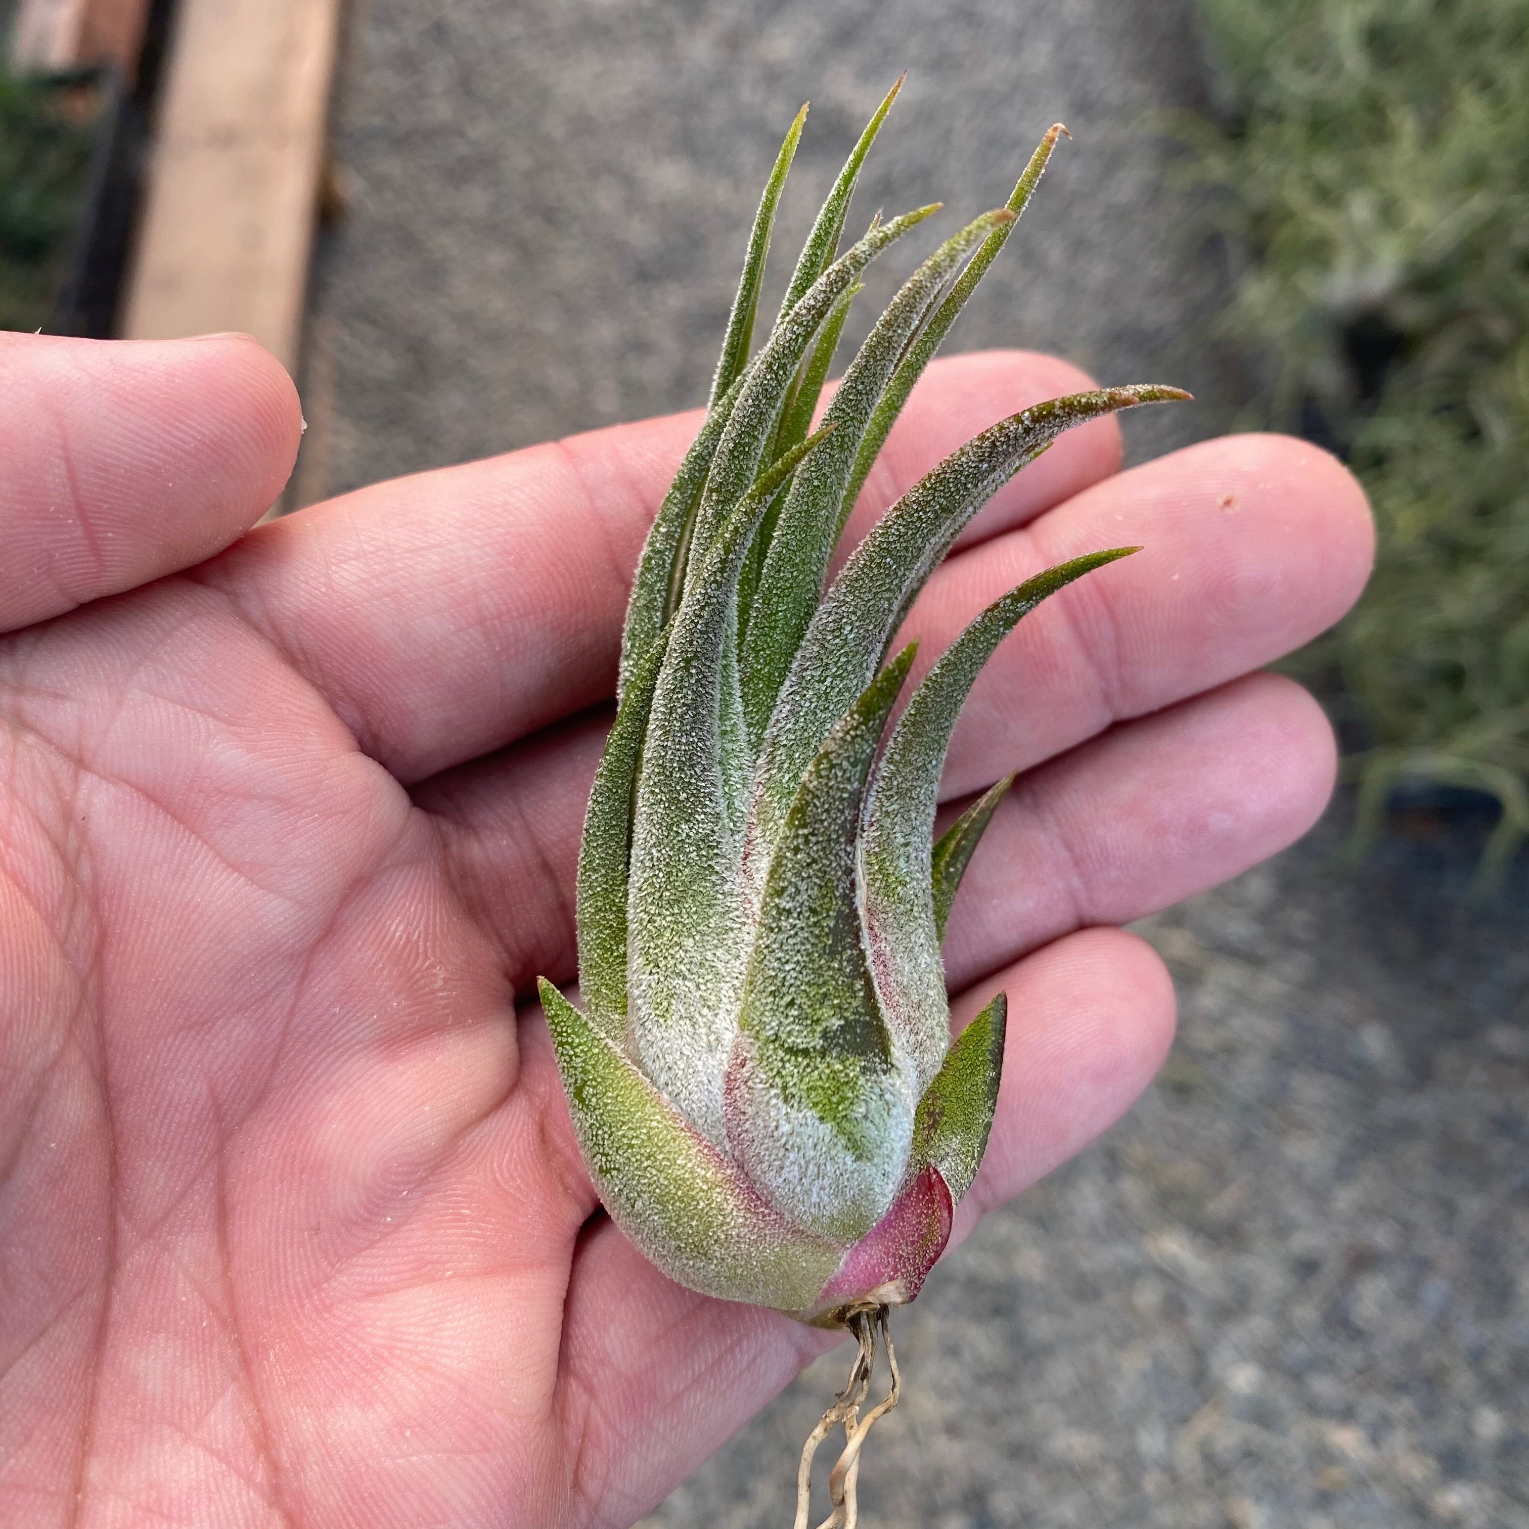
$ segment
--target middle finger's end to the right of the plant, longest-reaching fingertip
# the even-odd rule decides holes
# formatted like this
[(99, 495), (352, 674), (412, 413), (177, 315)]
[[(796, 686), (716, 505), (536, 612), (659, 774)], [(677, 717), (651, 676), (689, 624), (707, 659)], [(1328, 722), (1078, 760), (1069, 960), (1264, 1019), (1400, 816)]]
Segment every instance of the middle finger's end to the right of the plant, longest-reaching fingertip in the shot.
[(899, 641), (917, 636), (928, 668), (1023, 579), (1121, 544), (1142, 550), (1047, 599), (998, 647), (962, 713), (942, 795), (980, 790), (1309, 642), (1359, 596), (1375, 531), (1364, 491), (1326, 451), (1284, 436), (1208, 440), (953, 558)]

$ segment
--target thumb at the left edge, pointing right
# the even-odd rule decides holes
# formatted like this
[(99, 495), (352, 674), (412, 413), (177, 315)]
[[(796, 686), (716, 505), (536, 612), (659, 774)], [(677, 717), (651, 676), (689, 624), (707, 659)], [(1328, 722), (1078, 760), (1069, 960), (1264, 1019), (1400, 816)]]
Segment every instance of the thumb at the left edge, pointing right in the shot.
[(0, 630), (200, 563), (292, 471), (303, 419), (242, 335), (0, 335)]

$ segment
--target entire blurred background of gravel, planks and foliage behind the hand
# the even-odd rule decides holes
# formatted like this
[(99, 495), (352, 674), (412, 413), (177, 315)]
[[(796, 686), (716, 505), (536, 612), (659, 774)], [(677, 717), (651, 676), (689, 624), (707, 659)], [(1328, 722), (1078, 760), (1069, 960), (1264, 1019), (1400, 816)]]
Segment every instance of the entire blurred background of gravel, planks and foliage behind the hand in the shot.
[[(1304, 433), (1364, 477), (1381, 561), (1292, 661), (1344, 790), (1141, 927), (1174, 1055), (904, 1313), (865, 1521), (1529, 1529), (1529, 0), (0, 20), (0, 326), (254, 329), (312, 427), (284, 508), (703, 402), (804, 98), (777, 249), (904, 67), (853, 216), (998, 205), (1066, 121), (950, 349), (1193, 388), (1127, 419), (1136, 460)], [(647, 1523), (789, 1521), (841, 1370)]]

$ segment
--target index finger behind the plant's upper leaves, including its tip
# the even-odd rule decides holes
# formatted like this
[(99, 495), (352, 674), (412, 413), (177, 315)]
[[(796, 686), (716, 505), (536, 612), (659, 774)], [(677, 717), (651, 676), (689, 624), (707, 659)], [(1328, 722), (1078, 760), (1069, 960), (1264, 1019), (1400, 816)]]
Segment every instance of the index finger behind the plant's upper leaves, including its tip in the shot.
[[(931, 367), (861, 514), (1079, 378), (1026, 353)], [(691, 413), (619, 425), (361, 489), (263, 526), (199, 578), (291, 657), (368, 754), (419, 780), (612, 694), (642, 538), (699, 424)], [(1073, 431), (1006, 491), (1001, 514), (1032, 515), (1118, 456), (1113, 425)]]

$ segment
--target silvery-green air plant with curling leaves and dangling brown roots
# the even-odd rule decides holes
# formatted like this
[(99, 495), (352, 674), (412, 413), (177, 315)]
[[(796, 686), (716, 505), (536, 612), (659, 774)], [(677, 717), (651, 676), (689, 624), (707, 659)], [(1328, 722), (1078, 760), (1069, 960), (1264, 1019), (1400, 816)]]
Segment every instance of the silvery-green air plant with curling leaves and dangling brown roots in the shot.
[[(859, 1341), (849, 1387), (803, 1453), (798, 1526), (812, 1453), (836, 1423), (846, 1448), (829, 1523), (853, 1523), (861, 1440), (896, 1401), (887, 1309), (917, 1295), (945, 1248), (998, 1096), (1005, 998), (951, 1043), (940, 942), (1009, 780), (936, 841), (956, 720), (1026, 612), (1135, 549), (1075, 558), (989, 605), (894, 722), (914, 648), (890, 662), (888, 650), (960, 531), (1063, 430), (1188, 396), (1104, 388), (1000, 420), (904, 494), (827, 583), (887, 433), (1063, 131), (1046, 135), (1006, 206), (904, 283), (812, 430), (861, 274), (937, 209), (878, 216), (835, 254), (896, 93), (855, 145), (751, 358), (806, 107), (775, 161), (706, 420), (627, 609), (616, 720), (579, 852), (583, 1011), (541, 983), (584, 1159), (616, 1225), (694, 1290)], [(878, 1344), (893, 1390), (862, 1419)]]

